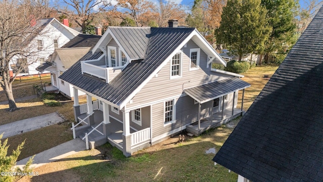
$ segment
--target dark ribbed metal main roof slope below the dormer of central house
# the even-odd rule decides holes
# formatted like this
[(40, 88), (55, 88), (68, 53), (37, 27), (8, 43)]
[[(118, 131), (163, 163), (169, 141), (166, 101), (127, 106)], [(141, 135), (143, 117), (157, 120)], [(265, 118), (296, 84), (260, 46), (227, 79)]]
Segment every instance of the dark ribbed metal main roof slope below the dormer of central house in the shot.
[(60, 78), (120, 106), (193, 31), (194, 28), (150, 28), (145, 35), (149, 38), (145, 59), (132, 61), (110, 83), (82, 74), (80, 62)]

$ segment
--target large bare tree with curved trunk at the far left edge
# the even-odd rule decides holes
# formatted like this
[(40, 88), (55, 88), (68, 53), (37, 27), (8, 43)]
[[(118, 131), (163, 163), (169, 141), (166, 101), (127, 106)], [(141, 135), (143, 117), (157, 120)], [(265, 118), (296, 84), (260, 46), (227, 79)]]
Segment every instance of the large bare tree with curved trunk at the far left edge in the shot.
[[(2, 79), (0, 85), (5, 90), (9, 101), (9, 110), (17, 109), (12, 92), (12, 82), (27, 66), (27, 58), (37, 57), (35, 49), (37, 42), (33, 37), (39, 34), (36, 17), (42, 17), (42, 13), (34, 9), (30, 4), (18, 0), (0, 2), (0, 72)], [(37, 48), (37, 47), (36, 47)], [(11, 75), (10, 64), (13, 58), (16, 62), (16, 73)]]

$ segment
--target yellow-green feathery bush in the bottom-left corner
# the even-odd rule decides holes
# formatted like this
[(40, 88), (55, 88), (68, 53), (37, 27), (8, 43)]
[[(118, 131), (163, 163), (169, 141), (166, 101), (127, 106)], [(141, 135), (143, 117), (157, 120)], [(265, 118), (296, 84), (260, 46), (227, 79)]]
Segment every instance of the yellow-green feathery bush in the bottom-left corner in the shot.
[[(21, 153), (21, 149), (23, 149), (23, 146), (25, 144), (25, 141), (22, 142), (20, 145), (18, 145), (17, 149), (12, 152), (11, 156), (8, 156), (8, 139), (5, 140), (4, 143), (1, 142), (3, 134), (0, 134), (0, 171), (1, 172), (23, 172), (23, 173), (29, 173), (31, 172), (31, 169), (29, 168), (32, 164), (32, 160), (34, 157), (30, 158), (23, 169), (16, 168), (14, 169), (14, 166), (16, 165), (17, 159)], [(13, 174), (13, 175), (11, 175)], [(14, 181), (19, 178), (19, 175), (14, 175), (14, 173), (4, 173), (0, 177), (0, 182), (3, 181)]]

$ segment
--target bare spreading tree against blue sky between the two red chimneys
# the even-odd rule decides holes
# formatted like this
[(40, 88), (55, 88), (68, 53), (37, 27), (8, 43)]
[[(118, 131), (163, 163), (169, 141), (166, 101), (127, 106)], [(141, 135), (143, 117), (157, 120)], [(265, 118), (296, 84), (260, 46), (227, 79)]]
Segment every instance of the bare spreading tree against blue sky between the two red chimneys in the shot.
[[(82, 28), (82, 31), (89, 26), (93, 20), (93, 17), (111, 6), (110, 0), (63, 0), (65, 4), (73, 8), (74, 13), (64, 13), (70, 19), (75, 21), (77, 25)], [(63, 12), (62, 12), (63, 13)]]

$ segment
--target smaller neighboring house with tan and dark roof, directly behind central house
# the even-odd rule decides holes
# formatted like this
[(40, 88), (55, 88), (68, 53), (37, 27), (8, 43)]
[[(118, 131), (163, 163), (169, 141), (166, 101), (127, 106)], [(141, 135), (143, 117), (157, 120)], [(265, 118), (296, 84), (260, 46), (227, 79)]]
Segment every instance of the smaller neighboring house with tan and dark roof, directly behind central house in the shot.
[[(59, 79), (59, 76), (88, 53), (100, 38), (100, 35), (81, 33), (62, 48), (56, 48), (55, 52), (51, 55), (51, 59), (48, 62), (42, 63), (36, 70), (41, 73), (50, 71), (51, 85), (55, 86), (62, 95), (71, 99), (74, 97), (72, 85)], [(84, 94), (81, 91), (78, 93), (79, 96)]]

